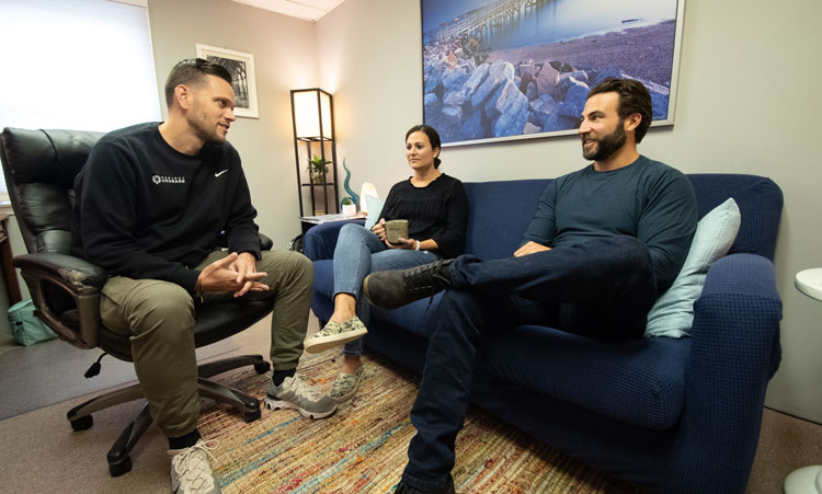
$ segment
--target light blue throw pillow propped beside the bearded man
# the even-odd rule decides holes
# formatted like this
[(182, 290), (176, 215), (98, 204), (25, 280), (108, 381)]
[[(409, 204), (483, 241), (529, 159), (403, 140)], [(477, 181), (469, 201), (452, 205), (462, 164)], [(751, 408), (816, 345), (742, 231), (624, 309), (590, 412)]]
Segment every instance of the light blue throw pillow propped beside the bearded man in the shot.
[(708, 268), (733, 245), (741, 217), (733, 198), (726, 200), (699, 220), (688, 256), (671, 288), (648, 313), (646, 337), (688, 335), (694, 324), (694, 302), (703, 292)]

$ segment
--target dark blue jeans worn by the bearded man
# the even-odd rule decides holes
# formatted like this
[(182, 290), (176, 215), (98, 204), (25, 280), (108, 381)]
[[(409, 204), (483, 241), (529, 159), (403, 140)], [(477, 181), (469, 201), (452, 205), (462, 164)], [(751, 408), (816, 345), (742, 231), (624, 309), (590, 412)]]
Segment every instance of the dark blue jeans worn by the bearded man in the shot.
[(597, 338), (641, 337), (657, 299), (648, 248), (624, 235), (524, 257), (464, 255), (450, 265), (450, 279), (411, 410), (416, 435), (402, 479), (421, 490), (442, 487), (454, 468), (483, 334), (541, 324)]

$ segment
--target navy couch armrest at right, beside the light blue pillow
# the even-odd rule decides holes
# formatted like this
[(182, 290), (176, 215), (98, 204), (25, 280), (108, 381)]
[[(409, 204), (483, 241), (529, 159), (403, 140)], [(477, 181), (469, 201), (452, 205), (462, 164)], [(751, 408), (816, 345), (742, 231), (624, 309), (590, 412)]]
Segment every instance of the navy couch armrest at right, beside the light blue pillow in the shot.
[(683, 416), (687, 430), (678, 434), (676, 447), (678, 453), (700, 451), (699, 475), (689, 492), (745, 491), (765, 391), (779, 366), (780, 320), (770, 261), (732, 254), (713, 263), (694, 305)]

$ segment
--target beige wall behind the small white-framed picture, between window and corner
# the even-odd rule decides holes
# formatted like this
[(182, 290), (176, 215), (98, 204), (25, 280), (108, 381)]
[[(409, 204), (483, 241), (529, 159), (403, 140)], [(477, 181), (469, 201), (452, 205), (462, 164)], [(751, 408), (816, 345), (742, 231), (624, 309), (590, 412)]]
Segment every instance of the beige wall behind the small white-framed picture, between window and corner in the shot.
[(317, 84), (313, 23), (228, 0), (149, 0), (158, 94), (171, 68), (196, 44), (254, 56), (260, 118), (238, 117), (228, 140), (238, 149), (260, 230), (286, 248), (300, 231), (292, 130), (292, 89)]

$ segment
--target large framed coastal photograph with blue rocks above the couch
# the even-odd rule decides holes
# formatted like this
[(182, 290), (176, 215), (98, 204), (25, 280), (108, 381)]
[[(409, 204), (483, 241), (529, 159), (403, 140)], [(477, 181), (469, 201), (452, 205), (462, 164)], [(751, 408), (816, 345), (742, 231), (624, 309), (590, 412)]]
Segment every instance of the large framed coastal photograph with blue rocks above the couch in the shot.
[(609, 77), (673, 125), (685, 0), (421, 2), (423, 122), (443, 146), (575, 134)]

